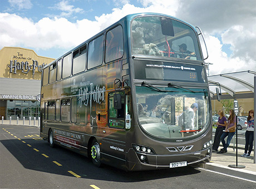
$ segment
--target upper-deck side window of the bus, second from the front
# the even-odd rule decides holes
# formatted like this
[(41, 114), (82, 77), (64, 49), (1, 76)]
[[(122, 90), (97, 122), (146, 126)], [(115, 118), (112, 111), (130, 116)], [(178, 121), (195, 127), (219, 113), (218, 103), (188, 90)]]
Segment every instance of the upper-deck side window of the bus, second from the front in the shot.
[(103, 61), (104, 36), (101, 35), (88, 44), (88, 69), (100, 66)]

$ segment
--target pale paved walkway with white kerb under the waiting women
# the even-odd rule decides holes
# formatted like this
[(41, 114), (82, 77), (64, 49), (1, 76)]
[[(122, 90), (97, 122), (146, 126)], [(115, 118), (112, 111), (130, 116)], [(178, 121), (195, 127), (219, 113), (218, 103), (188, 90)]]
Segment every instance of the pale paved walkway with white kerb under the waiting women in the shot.
[[(233, 148), (228, 148), (227, 153), (214, 152), (211, 161), (206, 163), (203, 168), (256, 182), (256, 164), (253, 162), (254, 152), (250, 154), (250, 157), (241, 157), (243, 153), (244, 150), (238, 149), (237, 161), (236, 150), (233, 150)], [(233, 168), (229, 165), (243, 165), (245, 168)]]

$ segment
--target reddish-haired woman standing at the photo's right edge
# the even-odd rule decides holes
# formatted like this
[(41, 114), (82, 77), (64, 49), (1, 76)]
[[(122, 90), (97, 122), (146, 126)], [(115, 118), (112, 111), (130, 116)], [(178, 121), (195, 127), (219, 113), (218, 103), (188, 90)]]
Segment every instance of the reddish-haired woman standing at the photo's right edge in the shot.
[[(249, 157), (250, 152), (253, 150), (253, 139), (254, 139), (254, 111), (249, 111), (249, 116), (247, 117), (247, 130), (245, 132), (245, 148), (242, 157)], [(249, 147), (249, 151), (248, 151)]]

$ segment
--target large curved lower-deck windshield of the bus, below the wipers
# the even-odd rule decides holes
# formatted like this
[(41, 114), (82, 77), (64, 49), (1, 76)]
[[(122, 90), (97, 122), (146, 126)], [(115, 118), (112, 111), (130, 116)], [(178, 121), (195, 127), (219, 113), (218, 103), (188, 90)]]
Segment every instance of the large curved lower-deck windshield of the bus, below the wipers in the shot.
[(179, 140), (210, 126), (206, 88), (136, 86), (141, 127), (151, 136)]

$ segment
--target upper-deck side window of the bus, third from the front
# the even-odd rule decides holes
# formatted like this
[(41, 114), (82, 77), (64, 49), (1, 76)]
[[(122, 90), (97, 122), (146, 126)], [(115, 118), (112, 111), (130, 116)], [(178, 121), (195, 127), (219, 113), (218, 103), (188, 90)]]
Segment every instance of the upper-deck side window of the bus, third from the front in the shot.
[(86, 65), (86, 46), (73, 52), (73, 71), (72, 74), (85, 71)]

